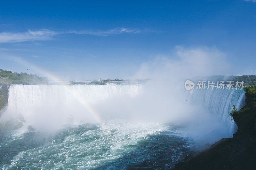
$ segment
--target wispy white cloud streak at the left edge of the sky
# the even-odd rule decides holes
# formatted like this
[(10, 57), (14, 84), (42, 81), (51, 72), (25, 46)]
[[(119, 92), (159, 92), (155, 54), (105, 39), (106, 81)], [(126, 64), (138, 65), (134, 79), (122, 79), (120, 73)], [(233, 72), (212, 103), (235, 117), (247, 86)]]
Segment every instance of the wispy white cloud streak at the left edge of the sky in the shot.
[(38, 40), (50, 40), (53, 35), (58, 34), (57, 32), (42, 29), (38, 31), (28, 30), (22, 33), (0, 33), (0, 43), (17, 43), (25, 41), (38, 41)]

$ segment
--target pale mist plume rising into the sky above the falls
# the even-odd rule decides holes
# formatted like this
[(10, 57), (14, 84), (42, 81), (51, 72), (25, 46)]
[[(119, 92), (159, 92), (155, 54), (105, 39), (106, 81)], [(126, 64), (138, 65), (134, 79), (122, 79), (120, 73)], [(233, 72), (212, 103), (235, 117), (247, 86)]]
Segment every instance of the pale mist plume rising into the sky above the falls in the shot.
[(131, 78), (180, 82), (195, 76), (230, 75), (229, 63), (227, 55), (215, 47), (177, 46), (171, 56), (156, 56), (154, 60), (143, 63)]

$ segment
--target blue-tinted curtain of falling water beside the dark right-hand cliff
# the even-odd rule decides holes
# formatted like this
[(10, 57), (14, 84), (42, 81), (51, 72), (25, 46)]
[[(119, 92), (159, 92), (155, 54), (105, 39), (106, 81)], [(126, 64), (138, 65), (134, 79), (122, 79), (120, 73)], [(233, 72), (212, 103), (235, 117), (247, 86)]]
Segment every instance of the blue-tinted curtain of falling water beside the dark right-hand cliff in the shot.
[(243, 107), (245, 104), (244, 97), (244, 90), (242, 89), (193, 89), (189, 95), (192, 104), (201, 105), (208, 109), (211, 114), (220, 117), (229, 129), (230, 135), (236, 131), (236, 124), (228, 112), (234, 104), (237, 109)]

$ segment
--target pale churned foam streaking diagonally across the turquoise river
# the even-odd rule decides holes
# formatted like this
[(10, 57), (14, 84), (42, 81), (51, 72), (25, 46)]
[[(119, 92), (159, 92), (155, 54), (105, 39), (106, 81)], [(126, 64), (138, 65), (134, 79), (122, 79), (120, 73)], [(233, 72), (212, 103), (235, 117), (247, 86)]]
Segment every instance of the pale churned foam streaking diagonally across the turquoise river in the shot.
[(83, 134), (70, 134), (63, 142), (45, 143), (37, 148), (20, 152), (4, 169), (22, 164), (24, 169), (93, 169), (108, 161), (115, 161), (145, 141), (149, 135), (166, 130), (162, 124), (140, 124), (107, 122), (105, 129), (95, 128)]

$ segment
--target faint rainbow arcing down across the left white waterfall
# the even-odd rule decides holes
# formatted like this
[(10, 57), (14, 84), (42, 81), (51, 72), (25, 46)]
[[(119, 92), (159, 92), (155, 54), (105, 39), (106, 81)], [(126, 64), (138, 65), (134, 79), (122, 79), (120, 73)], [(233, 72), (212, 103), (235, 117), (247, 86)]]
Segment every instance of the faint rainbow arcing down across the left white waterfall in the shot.
[[(60, 80), (60, 78), (58, 78), (57, 76), (55, 76), (54, 74), (42, 69), (42, 68), (39, 68), (31, 63), (28, 63), (27, 61), (24, 61), (22, 60), (21, 58), (17, 58), (17, 57), (13, 57), (12, 58), (15, 62), (19, 63), (19, 64), (22, 64), (24, 66), (27, 66), (33, 70), (36, 70), (37, 72), (43, 74), (44, 76), (46, 76), (47, 78), (50, 78), (52, 79), (53, 81), (56, 81), (57, 84), (60, 84), (60, 85), (63, 85), (63, 87), (67, 88), (68, 90), (68, 87), (67, 87), (67, 84), (64, 83), (63, 81)], [(84, 100), (84, 98), (79, 95), (78, 93), (71, 93), (79, 103), (81, 103), (84, 108), (87, 109), (87, 111), (93, 116), (93, 118), (101, 125), (103, 126), (103, 120), (101, 120), (100, 116), (98, 115), (98, 113), (94, 110), (94, 108), (86, 101)]]

